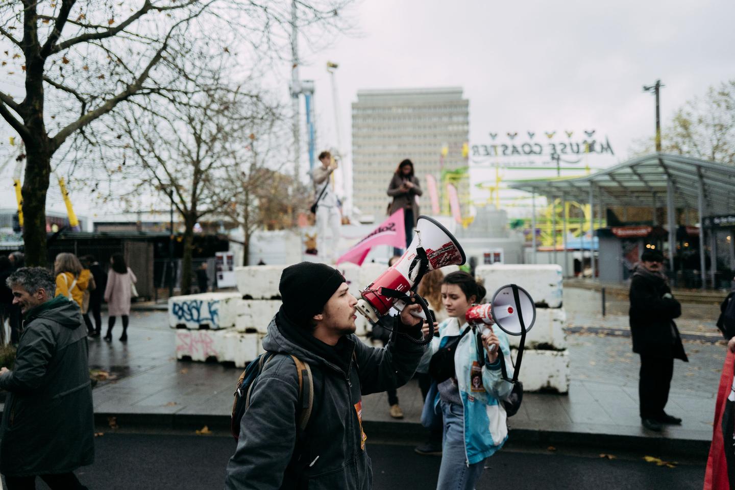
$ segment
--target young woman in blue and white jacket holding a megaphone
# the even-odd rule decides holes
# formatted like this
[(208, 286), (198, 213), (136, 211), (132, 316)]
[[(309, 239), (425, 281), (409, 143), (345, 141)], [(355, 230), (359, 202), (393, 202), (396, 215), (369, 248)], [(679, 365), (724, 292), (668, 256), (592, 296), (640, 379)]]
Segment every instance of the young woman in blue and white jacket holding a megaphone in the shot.
[[(434, 356), (449, 353), (442, 359), (454, 375), (437, 380), (425, 404), (425, 412), (436, 414), (441, 408), (444, 417), (437, 490), (474, 489), (485, 458), (501, 449), (508, 438), (506, 411), (500, 402), (513, 386), (503, 380), (498, 359), (498, 349), (502, 349), (506, 369), (512, 372), (508, 338), (497, 328), (480, 335), (465, 322), (467, 309), (484, 296), (485, 288), (465, 272), (447, 274), (442, 281), (442, 301), (449, 318), (440, 323), (440, 342), (432, 345), (432, 350)], [(424, 335), (428, 331), (425, 322)], [(457, 343), (453, 354), (451, 350), (442, 352), (443, 347), (454, 342)]]

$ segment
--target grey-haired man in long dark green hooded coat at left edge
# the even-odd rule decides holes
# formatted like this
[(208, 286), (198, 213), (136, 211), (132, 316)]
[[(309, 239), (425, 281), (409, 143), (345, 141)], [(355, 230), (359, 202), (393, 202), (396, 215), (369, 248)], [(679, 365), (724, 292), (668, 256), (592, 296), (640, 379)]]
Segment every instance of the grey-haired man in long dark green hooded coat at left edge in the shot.
[(43, 267), (16, 270), (7, 285), (25, 328), (14, 369), (0, 369), (0, 389), (9, 392), (0, 472), (10, 490), (35, 488), (36, 476), (54, 490), (86, 489), (73, 474), (94, 461), (87, 329), (79, 306), (54, 298), (54, 275)]

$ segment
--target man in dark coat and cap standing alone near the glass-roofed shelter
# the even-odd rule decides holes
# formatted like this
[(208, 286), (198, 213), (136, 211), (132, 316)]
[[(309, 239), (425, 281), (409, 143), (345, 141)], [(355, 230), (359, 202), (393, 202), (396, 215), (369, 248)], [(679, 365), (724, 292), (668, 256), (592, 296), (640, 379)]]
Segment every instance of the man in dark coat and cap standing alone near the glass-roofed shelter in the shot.
[(645, 251), (641, 262), (634, 266), (630, 292), (633, 352), (641, 356), (641, 422), (656, 432), (661, 431), (661, 424), (681, 424), (681, 419), (667, 414), (664, 407), (669, 398), (674, 359), (688, 361), (673, 322), (681, 315), (681, 305), (671, 294), (663, 262), (661, 252)]

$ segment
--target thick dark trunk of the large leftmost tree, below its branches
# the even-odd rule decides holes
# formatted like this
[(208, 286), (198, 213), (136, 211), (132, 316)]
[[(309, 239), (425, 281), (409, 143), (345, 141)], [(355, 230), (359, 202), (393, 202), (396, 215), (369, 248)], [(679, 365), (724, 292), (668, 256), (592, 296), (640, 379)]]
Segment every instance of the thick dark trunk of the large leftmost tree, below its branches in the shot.
[(26, 265), (46, 267), (46, 191), (51, 174), (51, 151), (46, 133), (26, 141), (26, 170), (23, 196), (23, 242)]

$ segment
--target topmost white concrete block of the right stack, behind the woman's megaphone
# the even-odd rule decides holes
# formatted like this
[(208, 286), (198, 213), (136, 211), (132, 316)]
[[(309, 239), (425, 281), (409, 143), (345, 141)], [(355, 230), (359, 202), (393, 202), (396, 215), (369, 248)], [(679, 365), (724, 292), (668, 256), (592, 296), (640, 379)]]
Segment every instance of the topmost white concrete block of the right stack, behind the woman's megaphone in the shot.
[(534, 303), (549, 308), (562, 306), (562, 267), (556, 264), (492, 264), (480, 265), (475, 274), (484, 281), (487, 299), (506, 284), (517, 284), (526, 289)]

